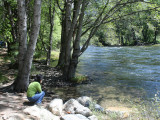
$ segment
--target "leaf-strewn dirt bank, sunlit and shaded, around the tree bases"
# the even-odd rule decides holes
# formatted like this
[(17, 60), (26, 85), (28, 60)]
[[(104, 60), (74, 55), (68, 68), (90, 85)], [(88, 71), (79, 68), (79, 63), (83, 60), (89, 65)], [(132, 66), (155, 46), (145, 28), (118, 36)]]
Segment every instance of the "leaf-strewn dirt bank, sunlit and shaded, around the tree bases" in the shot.
[[(6, 81), (2, 81), (0, 84), (0, 89), (9, 86), (13, 83), (15, 75), (17, 73), (16, 69), (10, 68), (10, 61), (4, 61), (6, 55), (6, 50), (1, 51), (1, 79), (5, 78)], [(34, 69), (31, 74), (30, 80), (33, 81), (36, 74), (42, 74), (44, 76), (44, 82), (42, 83), (42, 89), (46, 91), (42, 107), (46, 108), (48, 104), (55, 98), (61, 98), (57, 92), (51, 90), (51, 87), (67, 88), (74, 86), (75, 84), (66, 82), (62, 76), (61, 71), (57, 70), (55, 67), (48, 67), (44, 65), (43, 62), (34, 61)], [(3, 90), (3, 89), (1, 89)], [(74, 91), (73, 91), (74, 92)], [(74, 98), (76, 98), (75, 96)], [(67, 101), (72, 97), (66, 96), (63, 101)], [(9, 119), (11, 116), (20, 116), (25, 119), (37, 119), (34, 116), (26, 115), (23, 110), (32, 107), (33, 104), (29, 103), (26, 98), (26, 93), (16, 93), (13, 91), (1, 91), (0, 92), (0, 116), (1, 119)], [(111, 108), (113, 109), (113, 108)], [(96, 113), (99, 118), (105, 117), (105, 114)], [(100, 119), (101, 120), (101, 119)], [(102, 119), (102, 120), (105, 120)]]

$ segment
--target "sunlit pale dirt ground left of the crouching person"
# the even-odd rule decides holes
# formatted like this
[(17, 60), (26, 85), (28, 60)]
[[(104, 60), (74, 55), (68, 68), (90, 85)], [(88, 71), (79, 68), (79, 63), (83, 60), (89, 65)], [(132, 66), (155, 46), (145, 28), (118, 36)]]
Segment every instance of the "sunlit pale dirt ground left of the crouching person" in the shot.
[[(6, 86), (8, 84), (3, 85)], [(2, 87), (2, 86), (1, 86)], [(42, 102), (42, 107), (46, 107), (51, 101), (45, 97)], [(26, 107), (33, 106), (27, 100), (26, 93), (0, 92), (0, 120), (7, 120), (12, 116), (21, 116), (21, 119), (35, 119), (23, 113)]]

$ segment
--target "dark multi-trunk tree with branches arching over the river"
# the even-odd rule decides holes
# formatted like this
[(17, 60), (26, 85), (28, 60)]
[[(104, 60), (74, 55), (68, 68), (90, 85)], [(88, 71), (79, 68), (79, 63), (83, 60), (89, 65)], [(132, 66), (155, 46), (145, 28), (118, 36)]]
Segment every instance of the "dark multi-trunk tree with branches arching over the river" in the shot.
[[(142, 9), (139, 11), (136, 10), (129, 13), (121, 12), (120, 15), (116, 14), (119, 13), (119, 10), (124, 11), (125, 7), (128, 7), (128, 5), (135, 3), (142, 4), (141, 2), (148, 4), (148, 2), (142, 0), (64, 1), (63, 9), (60, 8), (62, 10), (62, 35), (61, 51), (58, 66), (62, 68), (63, 74), (67, 80), (70, 80), (71, 78), (75, 77), (78, 58), (88, 48), (91, 38), (95, 35), (96, 31), (100, 28), (100, 26), (118, 20), (125, 16), (146, 11)], [(150, 10), (154, 9), (155, 8), (151, 8)], [(84, 18), (83, 14), (85, 14)], [(80, 29), (82, 23), (84, 24), (83, 31), (81, 33)], [(86, 33), (89, 34), (88, 38), (86, 38), (86, 42), (80, 48), (80, 38)], [(123, 36), (121, 40), (123, 40)]]

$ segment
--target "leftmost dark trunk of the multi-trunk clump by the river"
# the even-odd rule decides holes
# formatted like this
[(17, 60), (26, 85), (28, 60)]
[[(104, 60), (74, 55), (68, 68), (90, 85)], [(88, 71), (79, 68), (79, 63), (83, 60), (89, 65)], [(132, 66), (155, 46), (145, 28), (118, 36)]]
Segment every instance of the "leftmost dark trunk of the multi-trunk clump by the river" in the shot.
[(61, 49), (58, 61), (59, 68), (62, 69), (64, 76), (67, 75), (67, 68), (69, 66), (68, 58), (70, 58), (71, 40), (68, 39), (69, 31), (71, 29), (71, 6), (72, 0), (67, 0), (64, 3), (64, 11), (62, 11), (62, 34), (61, 34)]

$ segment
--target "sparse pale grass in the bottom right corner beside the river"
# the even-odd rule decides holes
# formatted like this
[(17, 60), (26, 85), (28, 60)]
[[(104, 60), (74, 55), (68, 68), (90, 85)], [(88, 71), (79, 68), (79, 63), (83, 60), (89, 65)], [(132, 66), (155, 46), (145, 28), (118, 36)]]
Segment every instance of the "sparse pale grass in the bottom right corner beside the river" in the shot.
[[(127, 101), (127, 100), (126, 100)], [(107, 113), (95, 111), (93, 105), (90, 106), (93, 114), (96, 115), (98, 120), (160, 120), (160, 96), (157, 92), (152, 99), (140, 100), (140, 102), (128, 100), (130, 102), (130, 109), (132, 110), (127, 117), (121, 114), (121, 111)]]

